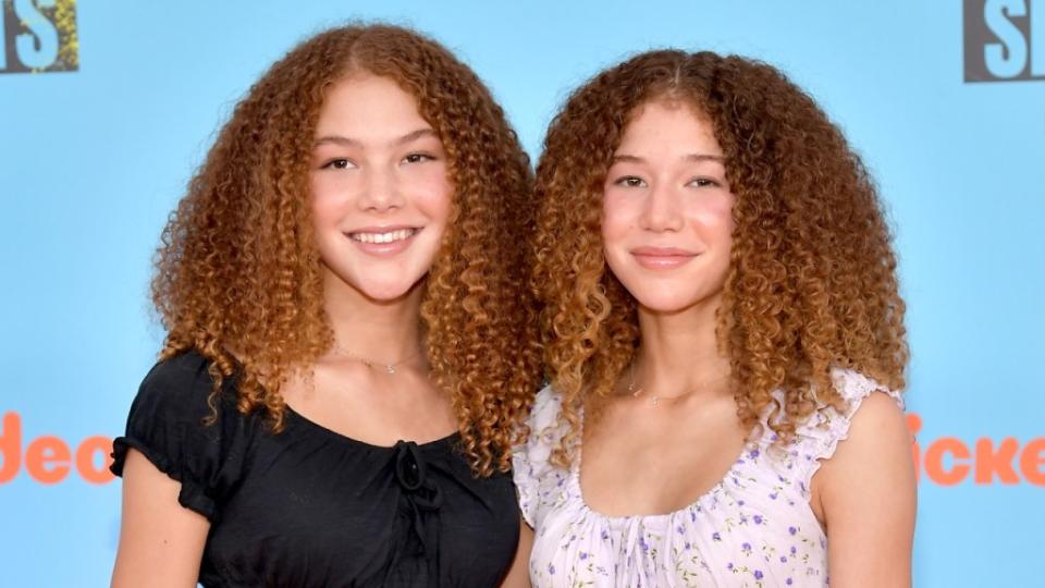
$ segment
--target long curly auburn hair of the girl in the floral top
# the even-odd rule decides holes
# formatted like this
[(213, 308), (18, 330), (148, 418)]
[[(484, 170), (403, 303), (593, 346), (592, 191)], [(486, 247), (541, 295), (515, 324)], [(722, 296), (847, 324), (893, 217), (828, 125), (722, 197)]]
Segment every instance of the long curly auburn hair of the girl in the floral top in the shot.
[[(780, 440), (840, 407), (831, 369), (902, 389), (908, 348), (896, 257), (875, 186), (812, 98), (776, 69), (712, 52), (652, 51), (577, 89), (555, 117), (537, 169), (531, 287), (544, 307), (544, 362), (568, 424), (617, 385), (639, 343), (637, 303), (606, 269), (603, 184), (636, 109), (680, 101), (708, 117), (736, 204), (730, 267), (716, 316), (738, 415)], [(771, 394), (784, 392), (783, 403)]]

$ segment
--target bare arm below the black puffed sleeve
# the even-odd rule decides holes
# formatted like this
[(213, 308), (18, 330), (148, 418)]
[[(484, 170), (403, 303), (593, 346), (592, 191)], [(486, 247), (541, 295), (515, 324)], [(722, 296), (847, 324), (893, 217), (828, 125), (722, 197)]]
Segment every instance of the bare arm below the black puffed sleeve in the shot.
[(179, 504), (180, 491), (139, 452), (127, 453), (113, 588), (196, 586), (210, 523)]

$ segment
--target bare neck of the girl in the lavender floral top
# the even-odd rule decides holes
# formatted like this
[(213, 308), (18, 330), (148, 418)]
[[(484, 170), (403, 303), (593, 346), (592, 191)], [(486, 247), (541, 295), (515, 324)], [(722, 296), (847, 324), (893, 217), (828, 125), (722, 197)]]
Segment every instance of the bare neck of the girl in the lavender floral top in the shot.
[(718, 306), (718, 296), (674, 313), (640, 306), (635, 381), (662, 397), (728, 392), (729, 358), (715, 338)]

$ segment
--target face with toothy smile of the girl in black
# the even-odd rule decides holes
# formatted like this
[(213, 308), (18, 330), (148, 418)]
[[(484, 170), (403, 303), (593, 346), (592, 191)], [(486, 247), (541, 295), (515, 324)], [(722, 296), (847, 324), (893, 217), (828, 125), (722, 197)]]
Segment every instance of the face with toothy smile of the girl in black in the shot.
[(440, 247), (453, 193), (443, 145), (414, 97), (366, 73), (330, 86), (309, 177), (328, 279), (374, 301), (409, 293)]

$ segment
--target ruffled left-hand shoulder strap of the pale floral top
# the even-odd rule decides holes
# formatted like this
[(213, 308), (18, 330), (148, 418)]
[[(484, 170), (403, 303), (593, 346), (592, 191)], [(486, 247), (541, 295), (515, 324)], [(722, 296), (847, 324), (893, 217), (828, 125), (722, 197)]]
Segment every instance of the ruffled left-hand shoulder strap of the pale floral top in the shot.
[(536, 528), (540, 518), (542, 499), (541, 488), (551, 485), (551, 477), (564, 474), (551, 463), (552, 452), (558, 446), (565, 430), (558, 422), (561, 397), (551, 385), (538, 392), (533, 400), (527, 425), (530, 436), (526, 443), (515, 448), (512, 454), (512, 475), (519, 499), (522, 518)]

